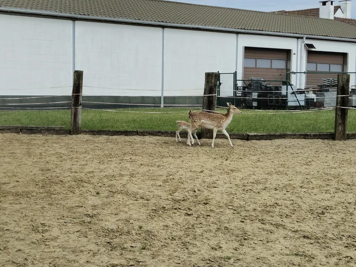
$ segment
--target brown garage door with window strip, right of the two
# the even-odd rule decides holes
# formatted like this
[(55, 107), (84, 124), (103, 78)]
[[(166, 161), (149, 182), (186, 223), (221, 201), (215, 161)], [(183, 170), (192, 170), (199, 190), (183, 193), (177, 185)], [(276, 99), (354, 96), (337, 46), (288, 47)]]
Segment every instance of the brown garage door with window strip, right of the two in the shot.
[(327, 74), (308, 74), (306, 86), (320, 86), (323, 80), (336, 79), (331, 72), (344, 71), (344, 53), (308, 51), (308, 72), (327, 72)]

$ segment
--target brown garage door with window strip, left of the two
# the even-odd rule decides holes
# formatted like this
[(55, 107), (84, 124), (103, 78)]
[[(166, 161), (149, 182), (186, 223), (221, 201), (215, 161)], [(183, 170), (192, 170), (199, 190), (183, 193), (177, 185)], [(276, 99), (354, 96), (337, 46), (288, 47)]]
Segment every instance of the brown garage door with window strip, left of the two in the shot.
[(288, 50), (245, 47), (244, 76), (264, 80), (285, 80)]

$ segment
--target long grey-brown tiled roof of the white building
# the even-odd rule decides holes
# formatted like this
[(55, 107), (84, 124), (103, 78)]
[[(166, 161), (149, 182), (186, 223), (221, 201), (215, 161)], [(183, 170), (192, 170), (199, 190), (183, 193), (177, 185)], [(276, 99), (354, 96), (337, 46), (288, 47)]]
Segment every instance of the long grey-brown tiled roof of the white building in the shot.
[(0, 7), (236, 30), (356, 39), (356, 27), (331, 19), (164, 0), (0, 0)]

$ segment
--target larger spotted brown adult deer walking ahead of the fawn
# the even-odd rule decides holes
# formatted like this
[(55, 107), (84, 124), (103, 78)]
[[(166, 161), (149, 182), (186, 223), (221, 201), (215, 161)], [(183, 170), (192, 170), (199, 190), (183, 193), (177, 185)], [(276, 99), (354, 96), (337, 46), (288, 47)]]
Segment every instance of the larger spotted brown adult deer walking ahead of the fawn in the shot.
[[(191, 146), (194, 144), (194, 139), (191, 133), (196, 131), (199, 127), (212, 129), (213, 130), (213, 142), (212, 147), (214, 148), (214, 140), (215, 136), (218, 131), (222, 131), (225, 134), (230, 142), (231, 148), (233, 148), (232, 142), (230, 140), (230, 136), (226, 132), (226, 127), (232, 120), (233, 114), (240, 114), (242, 113), (237, 107), (232, 105), (230, 102), (227, 103), (227, 112), (226, 114), (219, 114), (219, 113), (210, 113), (206, 111), (189, 111), (189, 120), (190, 120), (190, 128), (188, 129), (188, 139), (187, 144)], [(190, 143), (190, 139), (192, 140)], [(199, 143), (200, 144), (200, 143)]]

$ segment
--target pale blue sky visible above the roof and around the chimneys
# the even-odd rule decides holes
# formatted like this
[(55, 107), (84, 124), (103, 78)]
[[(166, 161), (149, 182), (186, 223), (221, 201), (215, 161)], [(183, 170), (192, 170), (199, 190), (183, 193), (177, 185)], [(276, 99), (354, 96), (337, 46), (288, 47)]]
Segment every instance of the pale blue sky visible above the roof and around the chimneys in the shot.
[[(216, 5), (258, 11), (298, 10), (319, 7), (319, 0), (175, 0), (177, 2)], [(338, 1), (334, 2), (337, 5)], [(353, 0), (351, 17), (356, 19), (356, 0)]]

